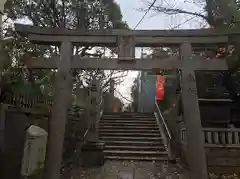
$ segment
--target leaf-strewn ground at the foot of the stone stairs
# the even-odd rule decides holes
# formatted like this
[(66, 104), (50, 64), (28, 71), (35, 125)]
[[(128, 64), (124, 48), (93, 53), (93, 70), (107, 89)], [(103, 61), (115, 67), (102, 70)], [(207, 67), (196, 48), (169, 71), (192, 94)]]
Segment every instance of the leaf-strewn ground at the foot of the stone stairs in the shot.
[(103, 167), (73, 169), (63, 179), (188, 179), (185, 171), (173, 164), (131, 161), (106, 161)]

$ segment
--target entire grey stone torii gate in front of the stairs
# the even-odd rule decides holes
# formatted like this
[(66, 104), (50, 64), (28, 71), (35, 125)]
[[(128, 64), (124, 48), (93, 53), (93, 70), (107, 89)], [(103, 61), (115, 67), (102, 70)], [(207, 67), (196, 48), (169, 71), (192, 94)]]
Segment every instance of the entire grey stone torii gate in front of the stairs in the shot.
[[(198, 106), (195, 70), (226, 70), (226, 60), (194, 56), (192, 47), (224, 45), (228, 43), (228, 33), (214, 30), (107, 30), (81, 31), (63, 28), (39, 28), (15, 25), (16, 30), (36, 44), (57, 45), (60, 55), (46, 59), (30, 58), (28, 68), (58, 68), (57, 90), (50, 119), (49, 140), (46, 156), (47, 173), (45, 179), (59, 179), (62, 145), (66, 124), (67, 97), (71, 92), (70, 69), (110, 69), (110, 70), (160, 70), (181, 69), (182, 102), (184, 121), (187, 129), (188, 162), (191, 178), (207, 179), (207, 164), (204, 138)], [(118, 58), (82, 58), (73, 55), (73, 46), (118, 47)], [(180, 47), (180, 58), (136, 59), (135, 47)]]

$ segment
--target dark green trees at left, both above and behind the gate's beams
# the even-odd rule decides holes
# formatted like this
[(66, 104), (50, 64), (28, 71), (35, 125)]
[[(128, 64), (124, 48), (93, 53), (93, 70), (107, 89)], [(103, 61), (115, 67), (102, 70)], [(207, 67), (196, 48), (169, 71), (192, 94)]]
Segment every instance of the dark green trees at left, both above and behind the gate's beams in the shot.
[[(41, 2), (41, 3), (40, 3)], [(71, 29), (110, 29), (128, 28), (122, 20), (121, 10), (113, 0), (8, 0), (5, 4), (5, 13), (13, 21), (23, 21), (40, 27), (66, 27)], [(4, 62), (4, 76), (8, 76), (6, 84), (13, 86), (15, 91), (21, 93), (24, 88), (33, 89), (35, 93), (40, 91), (45, 95), (54, 93), (55, 71), (27, 70), (24, 64), (31, 63), (29, 57), (49, 57), (59, 53), (58, 47), (39, 46), (30, 43), (26, 38), (20, 37), (12, 26), (5, 29), (5, 38), (13, 37), (12, 40), (4, 41), (3, 47), (7, 55)], [(101, 57), (103, 50), (99, 49), (92, 53), (93, 47), (76, 47), (77, 54), (82, 56)], [(0, 51), (2, 48), (0, 47)], [(13, 67), (22, 67), (16, 72)], [(83, 85), (82, 81), (91, 81), (93, 78), (106, 80), (103, 70), (81, 71), (73, 70), (74, 87)], [(14, 82), (12, 82), (12, 80)], [(36, 89), (32, 87), (36, 87)], [(106, 86), (106, 85), (105, 85)]]

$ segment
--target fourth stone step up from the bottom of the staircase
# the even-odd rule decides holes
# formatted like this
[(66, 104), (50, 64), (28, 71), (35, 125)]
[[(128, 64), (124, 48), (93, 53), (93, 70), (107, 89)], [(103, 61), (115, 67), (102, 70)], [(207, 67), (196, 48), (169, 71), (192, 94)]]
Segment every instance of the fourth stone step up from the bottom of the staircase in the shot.
[(126, 145), (132, 145), (132, 146), (162, 146), (163, 141), (134, 141), (134, 140), (102, 140), (105, 143), (105, 146), (107, 145), (115, 145), (115, 146), (126, 146)]

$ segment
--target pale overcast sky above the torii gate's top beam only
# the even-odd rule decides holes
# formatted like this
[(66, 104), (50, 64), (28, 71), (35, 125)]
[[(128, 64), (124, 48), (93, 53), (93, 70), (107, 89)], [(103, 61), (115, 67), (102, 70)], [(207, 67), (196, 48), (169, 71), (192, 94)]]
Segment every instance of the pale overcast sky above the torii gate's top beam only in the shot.
[[(142, 8), (146, 8), (147, 1), (153, 0), (115, 0), (121, 7), (123, 18), (127, 21), (131, 28), (134, 28), (138, 21), (143, 16)], [(201, 12), (202, 7), (199, 4), (193, 4), (189, 0), (157, 0), (156, 5), (163, 5), (168, 8), (179, 8), (190, 12)], [(199, 7), (200, 6), (200, 7)], [(173, 16), (156, 14), (153, 12), (148, 13), (145, 20), (138, 26), (138, 29), (170, 29), (178, 24), (183, 23), (192, 16), (182, 15)], [(184, 23), (179, 28), (198, 28), (199, 20), (193, 19)]]

